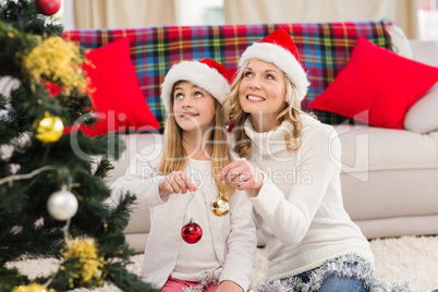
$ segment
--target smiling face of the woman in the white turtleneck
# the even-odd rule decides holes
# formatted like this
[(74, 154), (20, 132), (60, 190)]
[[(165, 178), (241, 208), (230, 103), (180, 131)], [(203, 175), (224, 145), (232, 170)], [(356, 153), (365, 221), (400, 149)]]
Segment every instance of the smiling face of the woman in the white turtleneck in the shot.
[(273, 63), (251, 60), (239, 86), (239, 101), (252, 117), (277, 118), (287, 106), (283, 72)]

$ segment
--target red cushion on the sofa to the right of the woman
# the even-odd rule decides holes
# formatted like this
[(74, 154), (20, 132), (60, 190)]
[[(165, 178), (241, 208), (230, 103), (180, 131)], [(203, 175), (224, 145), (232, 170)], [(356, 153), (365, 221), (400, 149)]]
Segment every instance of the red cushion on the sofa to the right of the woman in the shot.
[(308, 108), (403, 129), (406, 111), (437, 82), (438, 68), (400, 57), (360, 36), (345, 68)]

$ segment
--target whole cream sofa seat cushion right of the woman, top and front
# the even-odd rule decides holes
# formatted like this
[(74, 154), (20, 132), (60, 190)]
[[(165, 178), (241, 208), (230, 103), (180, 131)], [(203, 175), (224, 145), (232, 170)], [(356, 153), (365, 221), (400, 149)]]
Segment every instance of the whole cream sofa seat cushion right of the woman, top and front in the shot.
[(438, 135), (348, 124), (336, 131), (353, 220), (437, 214)]

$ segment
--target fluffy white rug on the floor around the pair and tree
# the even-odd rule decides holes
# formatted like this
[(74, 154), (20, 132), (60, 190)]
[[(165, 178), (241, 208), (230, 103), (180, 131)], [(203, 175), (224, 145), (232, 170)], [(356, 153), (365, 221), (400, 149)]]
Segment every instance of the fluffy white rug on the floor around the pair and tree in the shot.
[[(370, 246), (376, 258), (376, 271), (381, 279), (388, 282), (407, 282), (412, 291), (433, 291), (438, 289), (438, 236), (403, 236), (400, 239), (373, 240)], [(266, 250), (258, 248), (252, 275), (252, 284), (263, 283), (267, 259)], [(130, 271), (139, 272), (143, 255), (132, 257), (133, 265)], [(46, 276), (57, 269), (58, 261), (53, 259), (33, 259), (17, 261), (16, 266), (22, 273), (36, 278)], [(85, 289), (75, 290), (86, 291)], [(96, 290), (100, 292), (120, 291), (105, 285)]]

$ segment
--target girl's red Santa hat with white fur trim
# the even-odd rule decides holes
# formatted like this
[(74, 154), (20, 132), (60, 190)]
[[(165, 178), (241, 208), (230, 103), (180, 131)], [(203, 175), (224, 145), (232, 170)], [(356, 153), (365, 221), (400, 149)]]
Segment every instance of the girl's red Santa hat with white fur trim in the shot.
[(187, 81), (207, 90), (220, 104), (230, 94), (231, 75), (222, 64), (208, 58), (202, 61), (182, 61), (169, 70), (161, 84), (161, 99), (166, 112), (170, 109), (173, 85), (180, 81)]

